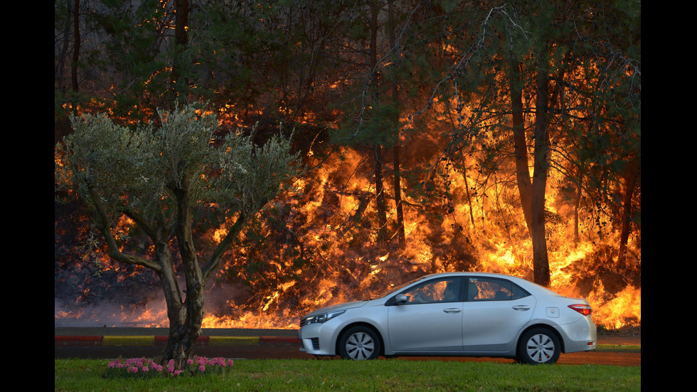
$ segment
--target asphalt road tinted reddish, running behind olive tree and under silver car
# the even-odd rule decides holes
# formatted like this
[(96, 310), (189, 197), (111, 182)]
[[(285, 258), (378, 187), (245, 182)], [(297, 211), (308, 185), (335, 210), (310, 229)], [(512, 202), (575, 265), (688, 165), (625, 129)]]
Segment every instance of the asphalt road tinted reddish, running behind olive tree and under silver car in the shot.
[[(66, 336), (166, 336), (167, 329), (151, 328), (55, 328), (55, 337)], [(281, 339), (260, 339), (254, 344), (207, 344), (197, 343), (194, 354), (200, 356), (226, 359), (315, 359), (314, 356), (300, 351), (294, 341), (297, 331), (287, 329), (203, 329), (202, 336), (227, 337), (277, 337)], [(282, 339), (288, 338), (288, 339)], [(619, 366), (641, 366), (640, 337), (599, 337), (599, 350), (561, 354), (558, 364), (607, 364)], [(637, 349), (639, 346), (639, 349)], [(603, 349), (600, 349), (603, 347)], [(606, 349), (610, 347), (610, 349)], [(59, 341), (55, 339), (54, 358), (152, 358), (161, 353), (164, 342), (149, 345), (97, 345), (94, 342)], [(338, 359), (339, 357), (333, 357)], [(332, 359), (332, 358), (329, 358)], [(440, 361), (496, 361), (513, 363), (511, 359), (461, 358), (461, 357), (400, 357), (405, 360), (440, 360)]]

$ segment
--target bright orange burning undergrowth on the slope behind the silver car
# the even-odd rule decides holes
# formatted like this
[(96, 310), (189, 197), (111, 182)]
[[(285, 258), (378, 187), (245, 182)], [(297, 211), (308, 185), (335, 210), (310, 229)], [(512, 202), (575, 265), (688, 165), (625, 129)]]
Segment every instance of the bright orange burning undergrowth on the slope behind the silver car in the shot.
[[(403, 184), (404, 248), (396, 240), (378, 245), (370, 149), (312, 158), (305, 149), (308, 160), (326, 161), (295, 184), (299, 192), (284, 194), (262, 211), (262, 219), (227, 254), (206, 292), (203, 327), (294, 329), (312, 309), (365, 300), (433, 272), (501, 272), (533, 280), (531, 245), (510, 179), (482, 179), (491, 173), (476, 160), (459, 170), (440, 164), (438, 142), (423, 137), (412, 142), (403, 165), (420, 169), (407, 172)], [(550, 181), (548, 198), (552, 289), (586, 297), (596, 324), (607, 329), (640, 326), (640, 233), (630, 238), (621, 266), (616, 235), (597, 234), (597, 216), (588, 214), (580, 223), (582, 234), (572, 239), (573, 211), (554, 193), (562, 182)], [(391, 185), (385, 181), (385, 194), (393, 194)], [(386, 231), (397, 231), (393, 209)], [(80, 204), (56, 204), (55, 324), (167, 327), (156, 275), (112, 262), (95, 238)], [(215, 243), (219, 233), (212, 228), (202, 238)], [(142, 254), (150, 245), (129, 246)]]

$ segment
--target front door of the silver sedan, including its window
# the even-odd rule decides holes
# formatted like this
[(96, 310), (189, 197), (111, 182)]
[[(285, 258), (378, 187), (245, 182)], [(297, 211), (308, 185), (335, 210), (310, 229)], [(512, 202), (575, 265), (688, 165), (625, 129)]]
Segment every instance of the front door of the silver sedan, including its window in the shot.
[(462, 283), (441, 278), (410, 287), (388, 308), (390, 345), (401, 352), (462, 352)]

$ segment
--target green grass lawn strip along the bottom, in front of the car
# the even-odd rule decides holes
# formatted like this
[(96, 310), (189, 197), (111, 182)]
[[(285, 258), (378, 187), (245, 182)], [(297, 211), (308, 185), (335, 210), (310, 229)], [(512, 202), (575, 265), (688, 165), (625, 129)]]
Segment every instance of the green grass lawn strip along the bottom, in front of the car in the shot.
[(55, 391), (640, 391), (641, 367), (245, 359), (225, 374), (105, 378), (107, 360), (56, 359)]

